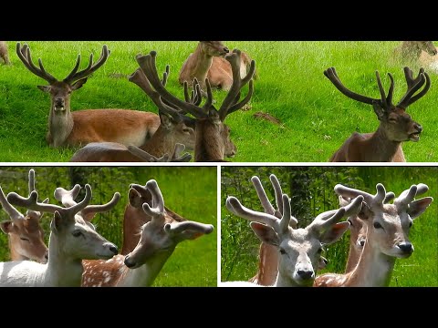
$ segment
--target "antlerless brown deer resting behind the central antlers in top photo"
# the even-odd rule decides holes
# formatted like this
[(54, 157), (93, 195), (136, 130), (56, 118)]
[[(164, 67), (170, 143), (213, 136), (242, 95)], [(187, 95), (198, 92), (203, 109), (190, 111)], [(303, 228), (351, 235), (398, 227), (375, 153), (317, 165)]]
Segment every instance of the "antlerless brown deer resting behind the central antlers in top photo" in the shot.
[[(206, 87), (204, 81), (208, 78), (211, 87), (228, 91), (233, 85), (233, 69), (224, 56), (229, 52), (230, 50), (224, 46), (222, 41), (200, 41), (181, 67), (180, 84), (187, 82), (192, 87), (193, 79), (196, 78), (204, 90)], [(250, 66), (251, 59), (242, 52), (240, 77), (246, 76)]]

